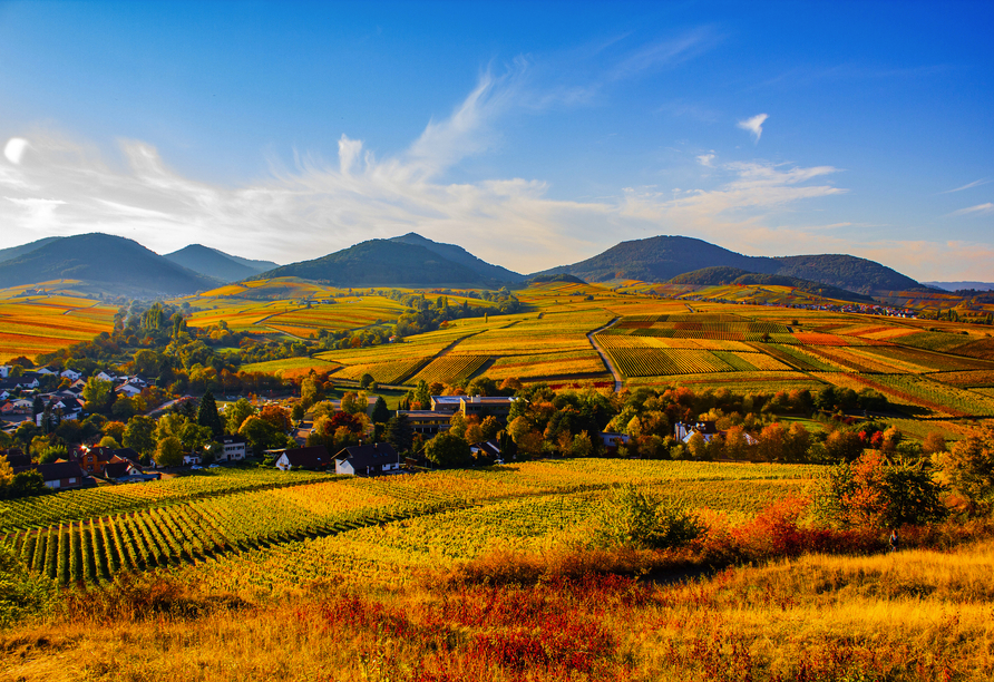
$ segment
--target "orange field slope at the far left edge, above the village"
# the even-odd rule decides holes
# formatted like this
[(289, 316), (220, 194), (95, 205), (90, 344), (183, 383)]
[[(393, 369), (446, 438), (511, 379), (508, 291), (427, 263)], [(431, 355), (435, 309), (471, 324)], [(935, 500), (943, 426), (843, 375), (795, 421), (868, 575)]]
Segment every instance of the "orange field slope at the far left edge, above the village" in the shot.
[(0, 363), (19, 355), (33, 359), (114, 329), (115, 308), (62, 289), (71, 282), (47, 285), (53, 289), (0, 290)]

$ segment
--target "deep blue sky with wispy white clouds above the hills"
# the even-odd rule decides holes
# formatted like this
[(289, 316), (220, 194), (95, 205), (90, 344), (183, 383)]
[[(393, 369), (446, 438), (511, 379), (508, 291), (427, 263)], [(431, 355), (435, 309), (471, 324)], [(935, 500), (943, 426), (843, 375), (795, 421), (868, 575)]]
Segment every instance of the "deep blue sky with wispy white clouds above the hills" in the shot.
[(660, 234), (994, 281), (992, 2), (0, 2), (0, 247), (530, 273)]

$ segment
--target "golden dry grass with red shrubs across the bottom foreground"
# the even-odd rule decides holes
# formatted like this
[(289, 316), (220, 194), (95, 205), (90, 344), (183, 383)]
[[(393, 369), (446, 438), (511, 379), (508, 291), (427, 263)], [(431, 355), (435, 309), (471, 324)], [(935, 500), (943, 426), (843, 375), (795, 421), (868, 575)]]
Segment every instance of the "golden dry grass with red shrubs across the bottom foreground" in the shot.
[[(994, 676), (991, 540), (690, 581), (583, 575), (568, 559), (489, 556), (399, 590), (324, 584), (256, 603), (129, 584), (0, 635), (0, 680)], [(537, 582), (479, 579), (528, 561), (545, 566)]]

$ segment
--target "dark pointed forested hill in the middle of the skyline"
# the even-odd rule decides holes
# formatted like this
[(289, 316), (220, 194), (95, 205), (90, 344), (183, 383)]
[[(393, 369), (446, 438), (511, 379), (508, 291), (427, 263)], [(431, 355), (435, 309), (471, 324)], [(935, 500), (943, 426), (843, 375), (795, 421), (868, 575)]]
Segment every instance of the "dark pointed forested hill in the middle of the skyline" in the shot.
[(370, 240), (250, 279), (262, 277), (302, 277), (339, 286), (486, 286), (494, 283), (426, 246), (393, 240)]

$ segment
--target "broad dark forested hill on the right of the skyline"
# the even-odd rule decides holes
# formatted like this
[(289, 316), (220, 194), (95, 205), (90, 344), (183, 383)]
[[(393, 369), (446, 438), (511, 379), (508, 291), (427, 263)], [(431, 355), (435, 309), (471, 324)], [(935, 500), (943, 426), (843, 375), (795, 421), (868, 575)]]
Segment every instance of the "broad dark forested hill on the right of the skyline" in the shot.
[(718, 266), (810, 280), (861, 294), (925, 289), (886, 265), (856, 256), (747, 256), (703, 240), (666, 235), (622, 242), (586, 261), (535, 274), (567, 273), (587, 282), (642, 280), (662, 283), (683, 273)]

